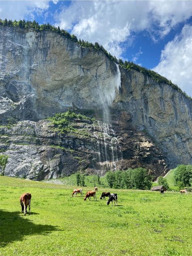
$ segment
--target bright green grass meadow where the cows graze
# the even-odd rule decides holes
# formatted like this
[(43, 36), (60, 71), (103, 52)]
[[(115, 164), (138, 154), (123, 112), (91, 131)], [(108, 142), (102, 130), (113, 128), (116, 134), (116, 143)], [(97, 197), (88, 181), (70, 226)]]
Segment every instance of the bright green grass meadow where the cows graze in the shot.
[[(73, 188), (0, 176), (0, 255), (192, 255), (192, 193), (98, 188), (94, 202), (72, 198)], [(102, 191), (117, 192), (119, 206)], [(21, 213), (23, 192), (31, 215)]]

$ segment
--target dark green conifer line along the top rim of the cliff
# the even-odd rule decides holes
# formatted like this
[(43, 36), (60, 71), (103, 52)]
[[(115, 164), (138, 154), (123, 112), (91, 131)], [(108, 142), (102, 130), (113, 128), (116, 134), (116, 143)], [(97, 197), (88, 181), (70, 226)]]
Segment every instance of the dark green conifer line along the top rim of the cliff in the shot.
[(158, 83), (166, 83), (171, 85), (173, 88), (175, 88), (175, 90), (181, 92), (184, 96), (186, 96), (187, 98), (192, 99), (190, 96), (188, 96), (186, 94), (186, 92), (183, 92), (181, 90), (181, 88), (179, 88), (179, 86), (177, 86), (176, 84), (172, 83), (171, 80), (167, 79), (166, 77), (163, 77), (161, 75), (159, 75), (158, 73), (156, 73), (155, 71), (151, 70), (151, 69), (147, 69), (145, 67), (141, 67), (137, 64), (135, 64), (134, 62), (130, 62), (130, 61), (123, 61), (122, 59), (117, 59), (115, 56), (111, 55), (110, 52), (108, 52), (102, 45), (100, 45), (98, 42), (96, 43), (90, 43), (88, 41), (84, 41), (81, 40), (79, 38), (79, 40), (77, 39), (77, 36), (75, 36), (74, 34), (70, 34), (69, 32), (67, 32), (64, 29), (60, 29), (60, 27), (55, 27), (52, 26), (49, 23), (44, 23), (44, 24), (38, 24), (38, 22), (34, 21), (25, 21), (23, 20), (19, 20), (19, 21), (12, 21), (12, 20), (7, 20), (7, 19), (0, 19), (0, 26), (9, 26), (9, 27), (19, 27), (19, 28), (33, 28), (35, 31), (44, 31), (44, 30), (49, 30), (49, 31), (53, 31), (56, 33), (59, 33), (63, 36), (65, 36), (66, 38), (69, 38), (70, 40), (72, 40), (75, 43), (78, 43), (79, 45), (81, 45), (81, 47), (86, 47), (86, 48), (91, 48), (91, 49), (96, 49), (98, 51), (102, 51), (110, 60), (112, 60), (113, 62), (119, 64), (120, 66), (122, 66), (123, 68), (127, 69), (127, 70), (137, 70), (140, 73), (143, 73), (145, 75), (148, 75), (149, 77), (151, 77), (152, 79), (154, 79), (156, 82)]

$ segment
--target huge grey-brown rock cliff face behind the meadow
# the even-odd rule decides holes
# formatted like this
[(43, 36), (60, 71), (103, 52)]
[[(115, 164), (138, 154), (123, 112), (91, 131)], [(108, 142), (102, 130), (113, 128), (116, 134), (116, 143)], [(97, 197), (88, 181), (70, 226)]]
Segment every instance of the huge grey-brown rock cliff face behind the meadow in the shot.
[[(99, 122), (73, 120), (77, 132), (61, 135), (42, 120), (68, 108)], [(0, 125), (5, 175), (144, 166), (157, 177), (192, 164), (191, 100), (55, 32), (0, 27)]]

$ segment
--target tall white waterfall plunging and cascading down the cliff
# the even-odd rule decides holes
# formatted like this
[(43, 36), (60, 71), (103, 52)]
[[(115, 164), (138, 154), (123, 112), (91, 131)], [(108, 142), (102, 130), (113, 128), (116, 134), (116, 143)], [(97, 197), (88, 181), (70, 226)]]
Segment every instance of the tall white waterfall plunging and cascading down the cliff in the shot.
[(117, 170), (116, 163), (122, 156), (120, 145), (111, 125), (110, 106), (121, 86), (121, 73), (117, 64), (116, 74), (111, 78), (108, 87), (99, 92), (102, 102), (103, 122), (94, 123), (94, 137), (97, 141), (97, 167), (100, 175), (104, 176), (108, 170)]

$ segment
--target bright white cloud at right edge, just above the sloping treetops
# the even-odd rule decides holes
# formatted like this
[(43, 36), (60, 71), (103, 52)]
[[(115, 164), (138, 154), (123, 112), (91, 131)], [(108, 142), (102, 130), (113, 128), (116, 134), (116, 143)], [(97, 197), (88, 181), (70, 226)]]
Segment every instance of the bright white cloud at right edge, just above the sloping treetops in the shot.
[(192, 26), (185, 25), (181, 34), (167, 43), (161, 60), (153, 70), (171, 79), (192, 96)]

